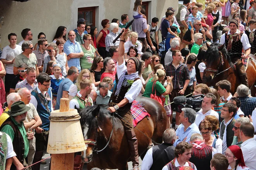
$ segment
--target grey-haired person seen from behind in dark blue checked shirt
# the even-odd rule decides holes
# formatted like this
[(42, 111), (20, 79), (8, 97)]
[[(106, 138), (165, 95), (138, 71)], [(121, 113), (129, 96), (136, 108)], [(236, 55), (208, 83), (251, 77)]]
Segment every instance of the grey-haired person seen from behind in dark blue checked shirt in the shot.
[(251, 97), (249, 94), (249, 88), (246, 85), (239, 85), (237, 87), (237, 92), (235, 92), (234, 97), (238, 97), (241, 102), (240, 109), (244, 112), (244, 116), (252, 115), (253, 110), (256, 107), (256, 97)]

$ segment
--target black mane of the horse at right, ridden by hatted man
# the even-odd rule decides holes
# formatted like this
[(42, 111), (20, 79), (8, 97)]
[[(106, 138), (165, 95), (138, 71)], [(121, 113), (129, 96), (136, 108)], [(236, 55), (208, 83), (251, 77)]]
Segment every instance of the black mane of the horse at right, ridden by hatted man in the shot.
[[(207, 51), (206, 51), (207, 65), (216, 65), (216, 61), (219, 61), (220, 55), (219, 55), (219, 49), (218, 48), (220, 46), (221, 46), (221, 44), (218, 44), (218, 43), (214, 42), (207, 49)], [(230, 56), (228, 55), (228, 51), (227, 51), (225, 45), (223, 46), (223, 49), (221, 50), (221, 53), (222, 53), (223, 59), (227, 59), (229, 65), (232, 66), (233, 63), (231, 62)]]

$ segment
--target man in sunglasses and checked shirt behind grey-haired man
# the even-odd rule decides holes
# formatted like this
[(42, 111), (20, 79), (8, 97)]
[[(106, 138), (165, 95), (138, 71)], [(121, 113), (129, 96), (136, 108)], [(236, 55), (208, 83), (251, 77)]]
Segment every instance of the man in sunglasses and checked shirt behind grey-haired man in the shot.
[(47, 39), (40, 39), (38, 41), (39, 49), (33, 51), (33, 53), (36, 55), (37, 67), (40, 73), (43, 71), (43, 61), (45, 60), (45, 57), (48, 56), (47, 44)]

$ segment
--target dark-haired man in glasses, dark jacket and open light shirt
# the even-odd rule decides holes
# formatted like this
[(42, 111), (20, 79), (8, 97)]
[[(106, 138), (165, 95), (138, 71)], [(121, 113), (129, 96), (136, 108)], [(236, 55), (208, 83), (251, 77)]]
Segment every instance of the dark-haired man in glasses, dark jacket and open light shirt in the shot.
[(222, 140), (222, 154), (227, 150), (227, 147), (232, 145), (234, 138), (235, 119), (234, 115), (237, 112), (237, 106), (234, 103), (228, 102), (221, 108), (220, 117), (224, 120), (220, 124), (220, 138)]

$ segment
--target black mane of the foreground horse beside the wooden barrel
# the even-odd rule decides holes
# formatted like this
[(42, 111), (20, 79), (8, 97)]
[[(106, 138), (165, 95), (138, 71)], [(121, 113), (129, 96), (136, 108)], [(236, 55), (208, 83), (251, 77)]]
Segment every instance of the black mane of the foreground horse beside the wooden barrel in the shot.
[(109, 117), (109, 111), (107, 110), (106, 105), (93, 105), (86, 106), (84, 109), (79, 110), (79, 115), (81, 116), (80, 123), (82, 128), (84, 126), (88, 127), (87, 136), (91, 136), (92, 133), (95, 133), (95, 130), (98, 128), (98, 120), (101, 117)]

